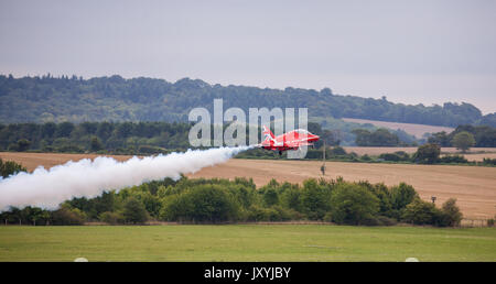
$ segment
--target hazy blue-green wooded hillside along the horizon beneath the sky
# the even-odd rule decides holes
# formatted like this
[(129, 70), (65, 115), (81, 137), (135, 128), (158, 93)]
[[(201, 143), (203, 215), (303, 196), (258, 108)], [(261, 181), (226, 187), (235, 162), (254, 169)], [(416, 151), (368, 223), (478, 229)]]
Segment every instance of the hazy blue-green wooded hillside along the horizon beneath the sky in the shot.
[[(470, 103), (407, 106), (382, 99), (335, 95), (322, 90), (288, 87), (281, 89), (209, 85), (183, 78), (175, 83), (153, 78), (125, 79), (120, 76), (35, 76), (14, 78), (0, 75), (0, 122), (83, 121), (187, 121), (195, 107), (212, 110), (215, 98), (224, 109), (238, 107), (309, 108), (310, 120), (359, 118), (381, 121), (457, 127), (496, 127), (496, 114), (482, 116)], [(248, 112), (247, 112), (248, 113)]]

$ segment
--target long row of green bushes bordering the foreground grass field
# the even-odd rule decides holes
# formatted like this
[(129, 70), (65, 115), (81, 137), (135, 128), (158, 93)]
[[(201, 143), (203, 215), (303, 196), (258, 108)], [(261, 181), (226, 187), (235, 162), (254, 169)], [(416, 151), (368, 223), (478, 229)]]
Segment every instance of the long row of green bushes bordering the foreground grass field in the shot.
[(56, 210), (11, 208), (0, 215), (8, 223), (110, 225), (144, 223), (148, 220), (180, 223), (233, 223), (315, 220), (337, 225), (391, 226), (397, 222), (459, 226), (462, 212), (455, 199), (441, 207), (422, 200), (414, 188), (310, 178), (303, 184), (276, 179), (258, 187), (252, 179), (182, 177), (109, 190), (96, 198), (73, 198)]

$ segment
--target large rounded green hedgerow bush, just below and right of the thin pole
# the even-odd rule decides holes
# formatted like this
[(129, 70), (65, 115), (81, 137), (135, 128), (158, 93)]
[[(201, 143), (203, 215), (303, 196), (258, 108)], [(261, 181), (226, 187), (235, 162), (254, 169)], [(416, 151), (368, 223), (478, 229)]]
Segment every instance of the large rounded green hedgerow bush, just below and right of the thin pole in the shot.
[(379, 211), (379, 199), (364, 186), (339, 184), (331, 195), (331, 216), (336, 223), (366, 225)]

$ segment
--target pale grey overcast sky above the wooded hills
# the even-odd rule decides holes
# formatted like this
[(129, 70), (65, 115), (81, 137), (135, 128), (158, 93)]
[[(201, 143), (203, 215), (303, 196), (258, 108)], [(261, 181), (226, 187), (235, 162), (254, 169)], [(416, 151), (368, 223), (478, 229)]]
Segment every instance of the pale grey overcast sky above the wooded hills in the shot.
[(496, 1), (0, 0), (0, 73), (119, 74), (496, 111)]

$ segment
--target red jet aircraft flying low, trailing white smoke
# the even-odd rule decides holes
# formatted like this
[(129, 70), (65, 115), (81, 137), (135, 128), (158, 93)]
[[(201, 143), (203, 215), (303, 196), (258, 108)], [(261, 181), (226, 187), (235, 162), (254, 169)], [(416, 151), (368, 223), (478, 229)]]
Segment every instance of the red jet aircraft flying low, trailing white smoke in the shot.
[(269, 128), (263, 125), (263, 142), (261, 148), (272, 151), (279, 151), (279, 155), (282, 155), (282, 151), (298, 150), (300, 146), (312, 146), (313, 142), (319, 141), (320, 136), (310, 133), (304, 129), (296, 129), (287, 132), (282, 135), (274, 136)]

